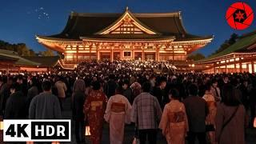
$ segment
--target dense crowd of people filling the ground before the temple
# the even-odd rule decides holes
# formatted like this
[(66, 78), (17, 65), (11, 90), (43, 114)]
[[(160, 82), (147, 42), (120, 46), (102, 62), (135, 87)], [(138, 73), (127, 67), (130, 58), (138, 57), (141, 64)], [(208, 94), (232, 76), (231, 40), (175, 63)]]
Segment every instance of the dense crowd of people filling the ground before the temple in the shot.
[[(6, 119), (62, 118), (71, 97), (77, 143), (102, 142), (104, 122), (110, 143), (122, 144), (125, 126), (134, 142), (246, 143), (256, 109), (254, 74), (174, 74), (169, 62), (82, 62), (76, 70), (48, 74), (2, 74), (0, 110)], [(160, 71), (159, 71), (160, 70)]]

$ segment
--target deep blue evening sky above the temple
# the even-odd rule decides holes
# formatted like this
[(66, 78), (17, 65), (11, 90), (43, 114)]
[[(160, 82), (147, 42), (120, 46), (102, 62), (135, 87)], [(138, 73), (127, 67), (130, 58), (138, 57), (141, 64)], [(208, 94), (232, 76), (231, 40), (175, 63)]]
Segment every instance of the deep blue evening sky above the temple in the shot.
[[(227, 8), (235, 0), (2, 0), (0, 5), (0, 39), (25, 42), (35, 51), (45, 50), (34, 35), (60, 33), (71, 11), (84, 13), (122, 13), (126, 6), (134, 13), (182, 11), (182, 19), (190, 34), (214, 34), (210, 45), (198, 50), (211, 54), (232, 33), (256, 30), (256, 20), (246, 30), (234, 30), (227, 23)], [(256, 10), (255, 0), (244, 0)], [(255, 19), (255, 18), (254, 18)], [(97, 25), (97, 23), (95, 23)]]

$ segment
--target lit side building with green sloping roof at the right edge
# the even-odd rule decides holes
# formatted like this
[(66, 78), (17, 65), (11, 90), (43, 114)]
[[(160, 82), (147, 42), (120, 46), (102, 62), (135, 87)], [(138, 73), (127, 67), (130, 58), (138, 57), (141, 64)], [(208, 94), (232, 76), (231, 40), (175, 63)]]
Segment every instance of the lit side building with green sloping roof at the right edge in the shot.
[(209, 58), (195, 62), (195, 69), (204, 73), (256, 72), (256, 31), (243, 34), (237, 42)]

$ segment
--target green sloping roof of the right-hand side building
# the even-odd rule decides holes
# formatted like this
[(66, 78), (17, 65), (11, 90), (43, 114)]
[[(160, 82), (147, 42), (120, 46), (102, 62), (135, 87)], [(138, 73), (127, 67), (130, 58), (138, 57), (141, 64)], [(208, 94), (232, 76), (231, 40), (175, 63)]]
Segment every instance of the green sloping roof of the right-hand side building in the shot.
[(208, 58), (199, 60), (198, 62), (206, 62), (213, 60), (214, 58), (222, 57), (226, 54), (231, 53), (250, 53), (256, 51), (256, 31), (249, 34), (242, 35), (237, 42), (233, 45), (227, 47), (225, 50), (219, 52), (218, 54), (211, 55)]

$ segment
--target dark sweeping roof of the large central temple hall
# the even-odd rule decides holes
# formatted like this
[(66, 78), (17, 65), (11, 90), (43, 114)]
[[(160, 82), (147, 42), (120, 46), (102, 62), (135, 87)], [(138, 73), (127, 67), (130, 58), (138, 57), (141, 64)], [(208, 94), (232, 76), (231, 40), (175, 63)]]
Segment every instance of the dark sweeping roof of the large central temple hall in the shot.
[[(46, 40), (67, 40), (80, 41), (81, 38), (130, 38), (136, 39), (139, 36), (135, 34), (116, 34), (102, 36), (101, 32), (110, 29), (114, 26), (122, 16), (129, 14), (136, 23), (142, 28), (149, 30), (151, 33), (145, 34), (141, 38), (166, 38), (174, 37), (174, 41), (206, 39), (210, 37), (200, 37), (193, 34), (188, 34), (182, 24), (181, 12), (173, 13), (148, 13), (148, 14), (134, 14), (130, 10), (126, 10), (120, 14), (91, 14), (91, 13), (75, 13), (72, 12), (66, 23), (66, 27), (60, 34), (50, 36), (38, 36)], [(146, 35), (154, 35), (154, 37)], [(140, 35), (142, 36), (142, 35)], [(138, 39), (141, 39), (138, 38)]]

